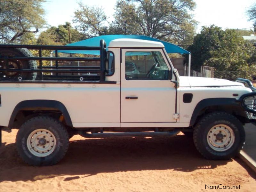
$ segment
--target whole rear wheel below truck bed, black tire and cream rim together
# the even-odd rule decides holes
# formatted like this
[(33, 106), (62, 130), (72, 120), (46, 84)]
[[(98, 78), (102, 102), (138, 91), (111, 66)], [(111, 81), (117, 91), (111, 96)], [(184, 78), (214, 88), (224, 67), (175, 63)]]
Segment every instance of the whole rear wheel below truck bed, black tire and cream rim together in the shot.
[(16, 136), (19, 156), (35, 166), (58, 163), (68, 150), (68, 132), (58, 119), (36, 116), (20, 126)]

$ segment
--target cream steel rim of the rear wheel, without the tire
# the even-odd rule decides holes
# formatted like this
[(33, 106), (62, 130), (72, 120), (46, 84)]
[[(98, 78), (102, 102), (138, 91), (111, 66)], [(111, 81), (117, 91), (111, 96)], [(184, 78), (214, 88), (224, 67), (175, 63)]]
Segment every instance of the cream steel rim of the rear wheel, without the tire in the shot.
[(29, 134), (27, 147), (33, 155), (45, 157), (52, 154), (56, 148), (56, 138), (49, 130), (36, 129)]

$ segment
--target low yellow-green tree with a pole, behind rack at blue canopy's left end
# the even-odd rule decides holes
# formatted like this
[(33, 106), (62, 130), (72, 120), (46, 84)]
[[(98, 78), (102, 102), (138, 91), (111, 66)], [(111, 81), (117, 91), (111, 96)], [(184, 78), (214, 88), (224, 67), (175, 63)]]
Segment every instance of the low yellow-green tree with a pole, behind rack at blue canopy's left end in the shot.
[(41, 32), (37, 39), (38, 44), (43, 45), (65, 45), (83, 40), (85, 37), (82, 33), (72, 28), (69, 22), (58, 27), (48, 28)]

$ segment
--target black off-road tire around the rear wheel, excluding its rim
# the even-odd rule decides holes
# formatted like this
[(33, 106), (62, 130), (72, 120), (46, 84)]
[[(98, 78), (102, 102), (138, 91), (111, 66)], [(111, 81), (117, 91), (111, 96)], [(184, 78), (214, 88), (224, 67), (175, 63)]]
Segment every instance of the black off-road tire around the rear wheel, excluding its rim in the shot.
[[(36, 130), (48, 130), (56, 138), (56, 147), (48, 156), (41, 157), (31, 153), (32, 148), (28, 145), (28, 138), (31, 133)], [(29, 119), (21, 125), (16, 136), (18, 154), (26, 163), (34, 166), (58, 163), (66, 154), (68, 144), (69, 138), (67, 129), (59, 121), (49, 116), (37, 116)], [(30, 150), (28, 147), (30, 147)]]

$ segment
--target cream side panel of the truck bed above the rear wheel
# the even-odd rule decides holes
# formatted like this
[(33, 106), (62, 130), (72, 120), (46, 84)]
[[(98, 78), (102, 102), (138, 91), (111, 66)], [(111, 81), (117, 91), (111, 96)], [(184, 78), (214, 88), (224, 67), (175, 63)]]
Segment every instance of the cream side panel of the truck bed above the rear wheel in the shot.
[(0, 125), (24, 100), (56, 100), (72, 123), (120, 123), (120, 84), (0, 84)]

